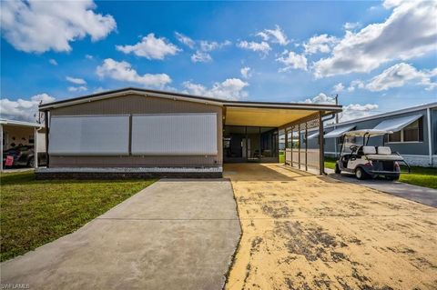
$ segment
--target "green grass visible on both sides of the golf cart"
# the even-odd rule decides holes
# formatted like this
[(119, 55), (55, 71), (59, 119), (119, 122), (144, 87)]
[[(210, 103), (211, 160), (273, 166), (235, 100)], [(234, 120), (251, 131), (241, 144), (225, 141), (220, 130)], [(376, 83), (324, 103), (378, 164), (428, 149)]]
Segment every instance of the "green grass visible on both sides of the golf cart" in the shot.
[[(325, 167), (334, 169), (335, 159), (325, 157)], [(406, 172), (406, 167), (401, 167), (402, 172)], [(401, 174), (399, 181), (411, 185), (419, 185), (437, 189), (437, 168), (412, 166), (411, 174)]]

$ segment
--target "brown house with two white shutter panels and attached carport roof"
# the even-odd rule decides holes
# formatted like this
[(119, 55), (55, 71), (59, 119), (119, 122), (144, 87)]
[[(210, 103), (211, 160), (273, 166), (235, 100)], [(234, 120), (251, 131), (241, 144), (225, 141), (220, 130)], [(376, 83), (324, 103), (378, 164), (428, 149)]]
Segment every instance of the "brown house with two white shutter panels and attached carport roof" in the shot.
[(221, 176), (224, 162), (278, 162), (279, 129), (341, 111), (340, 105), (227, 101), (137, 88), (39, 108), (49, 120), (48, 168), (37, 172), (41, 178), (85, 172)]

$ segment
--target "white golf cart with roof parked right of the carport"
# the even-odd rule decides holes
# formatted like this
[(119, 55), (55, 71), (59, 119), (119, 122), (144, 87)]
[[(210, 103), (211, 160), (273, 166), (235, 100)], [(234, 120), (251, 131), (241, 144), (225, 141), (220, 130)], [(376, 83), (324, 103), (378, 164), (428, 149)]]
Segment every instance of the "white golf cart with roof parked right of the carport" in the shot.
[[(399, 153), (391, 153), (391, 148), (384, 146), (384, 135), (392, 134), (385, 130), (357, 130), (342, 135), (340, 158), (335, 164), (335, 173), (341, 171), (355, 174), (358, 179), (376, 178), (383, 175), (388, 180), (398, 180), (401, 175), (400, 163), (410, 166)], [(369, 145), (371, 137), (382, 140), (381, 146)], [(376, 138), (375, 138), (376, 139)], [(372, 140), (375, 140), (372, 139)]]

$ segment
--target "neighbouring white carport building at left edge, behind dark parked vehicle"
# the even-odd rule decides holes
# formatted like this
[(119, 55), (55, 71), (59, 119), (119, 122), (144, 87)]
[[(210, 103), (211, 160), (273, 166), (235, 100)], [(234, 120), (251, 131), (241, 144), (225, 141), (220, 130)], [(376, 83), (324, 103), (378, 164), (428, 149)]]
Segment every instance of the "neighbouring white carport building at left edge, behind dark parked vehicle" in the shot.
[(34, 146), (39, 153), (46, 152), (45, 130), (42, 124), (0, 119), (0, 152), (3, 155), (4, 151), (20, 145)]

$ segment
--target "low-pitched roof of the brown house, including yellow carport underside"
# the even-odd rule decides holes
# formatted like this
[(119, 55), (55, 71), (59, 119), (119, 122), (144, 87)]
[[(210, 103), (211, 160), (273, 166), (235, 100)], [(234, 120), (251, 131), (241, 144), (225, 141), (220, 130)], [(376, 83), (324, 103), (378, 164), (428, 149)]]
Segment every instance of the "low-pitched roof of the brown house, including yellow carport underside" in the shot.
[(39, 109), (41, 111), (48, 111), (56, 107), (77, 105), (129, 94), (145, 96), (149, 95), (180, 101), (219, 105), (222, 106), (225, 111), (225, 125), (257, 125), (279, 127), (318, 112), (322, 112), (323, 115), (341, 112), (341, 105), (229, 101), (207, 96), (187, 95), (175, 92), (165, 92), (133, 87), (127, 87), (94, 95), (84, 95), (58, 102), (43, 104), (39, 106)]

